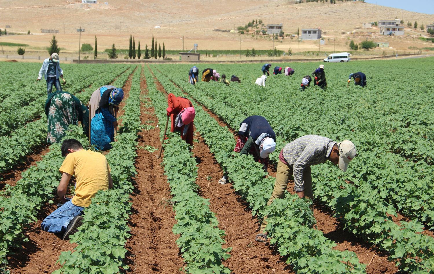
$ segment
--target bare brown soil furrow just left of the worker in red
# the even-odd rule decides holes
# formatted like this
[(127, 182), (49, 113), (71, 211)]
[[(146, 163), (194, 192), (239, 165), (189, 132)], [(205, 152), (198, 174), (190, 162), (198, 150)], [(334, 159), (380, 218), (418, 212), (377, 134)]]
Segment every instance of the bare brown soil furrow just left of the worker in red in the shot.
[[(146, 90), (144, 76), (141, 79), (142, 92)], [(141, 107), (141, 122), (158, 119), (152, 107)], [(149, 123), (146, 123), (149, 124)], [(151, 145), (159, 148), (160, 129), (142, 130), (139, 133), (138, 146)], [(177, 235), (172, 233), (176, 220), (172, 207), (166, 202), (171, 199), (170, 189), (162, 158), (158, 159), (158, 150), (153, 153), (144, 149), (137, 150), (134, 194), (132, 194), (133, 214), (129, 226), (132, 236), (126, 244), (128, 250), (127, 273), (181, 273), (184, 262), (175, 244)]]

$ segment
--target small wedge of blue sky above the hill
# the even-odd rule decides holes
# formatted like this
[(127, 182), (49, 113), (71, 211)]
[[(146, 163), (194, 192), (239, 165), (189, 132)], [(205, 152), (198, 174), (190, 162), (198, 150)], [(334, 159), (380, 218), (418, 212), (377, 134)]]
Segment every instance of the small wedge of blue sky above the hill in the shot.
[(366, 3), (434, 14), (434, 0), (365, 0)]

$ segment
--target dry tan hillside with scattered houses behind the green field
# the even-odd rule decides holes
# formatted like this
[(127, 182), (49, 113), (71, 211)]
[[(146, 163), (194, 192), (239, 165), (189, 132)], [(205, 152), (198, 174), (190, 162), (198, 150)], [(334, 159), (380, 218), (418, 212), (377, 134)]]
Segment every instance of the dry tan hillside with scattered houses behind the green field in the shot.
[[(294, 4), (292, 0), (221, 0), (214, 4), (200, 0), (148, 0), (145, 4), (140, 0), (108, 1), (108, 4), (103, 1), (82, 4), (69, 0), (0, 0), (0, 26), (10, 25), (13, 31), (30, 30), (39, 34), (1, 36), (0, 40), (27, 43), (34, 49), (42, 49), (48, 44), (51, 34), (40, 34), (40, 29), (58, 29), (60, 33), (56, 36), (60, 47), (73, 51), (78, 48), (76, 29), (81, 26), (85, 29), (82, 43), (93, 44), (96, 35), (99, 37), (100, 50), (110, 47), (112, 43), (121, 48), (128, 47), (130, 33), (143, 44), (149, 44), (154, 35), (158, 43), (165, 43), (166, 49), (181, 49), (182, 36), (186, 49), (198, 43), (200, 49), (236, 50), (240, 48), (240, 40), (242, 49), (272, 49), (273, 41), (268, 38), (242, 35), (239, 39), (238, 34), (213, 31), (231, 30), (253, 19), (261, 19), (265, 24), (283, 23), (285, 33), (296, 34), (297, 28), (319, 27), (326, 39), (326, 45), (322, 46), (324, 50), (333, 47), (344, 50), (349, 38), (356, 42), (365, 38), (390, 41), (391, 47), (406, 50), (408, 47), (429, 46), (429, 43), (425, 45), (417, 39), (421, 30), (406, 28), (404, 37), (383, 37), (378, 35), (376, 28), (361, 29), (362, 23), (394, 18), (403, 19), (404, 25), (414, 20), (424, 25), (434, 22), (432, 15), (362, 2)], [(302, 50), (318, 50), (317, 43), (306, 41), (300, 47)], [(277, 42), (275, 47), (282, 50), (291, 47), (295, 50), (298, 43), (296, 39), (286, 38), (282, 43)]]

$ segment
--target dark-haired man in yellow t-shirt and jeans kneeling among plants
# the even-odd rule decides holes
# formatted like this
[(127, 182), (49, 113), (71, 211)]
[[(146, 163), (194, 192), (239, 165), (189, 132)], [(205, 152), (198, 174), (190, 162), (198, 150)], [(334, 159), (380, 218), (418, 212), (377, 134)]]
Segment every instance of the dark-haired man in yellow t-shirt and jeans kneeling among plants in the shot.
[[(62, 178), (57, 195), (62, 205), (58, 205), (42, 221), (41, 228), (50, 233), (63, 234), (62, 239), (68, 240), (82, 225), (84, 208), (89, 207), (99, 190), (111, 189), (113, 180), (109, 163), (103, 154), (83, 149), (82, 144), (75, 139), (64, 140), (61, 150), (65, 160), (59, 168)], [(75, 195), (67, 199), (65, 195), (72, 175), (76, 178)]]

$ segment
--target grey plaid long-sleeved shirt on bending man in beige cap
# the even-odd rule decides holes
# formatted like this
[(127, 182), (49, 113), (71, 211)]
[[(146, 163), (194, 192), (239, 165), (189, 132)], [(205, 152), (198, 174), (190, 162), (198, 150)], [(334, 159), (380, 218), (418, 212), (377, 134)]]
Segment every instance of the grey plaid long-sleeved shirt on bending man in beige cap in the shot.
[[(293, 165), (295, 190), (304, 190), (303, 171), (308, 166), (322, 164), (327, 161), (336, 142), (318, 135), (305, 135), (282, 149), (285, 164)], [(281, 159), (282, 160), (282, 159)]]

